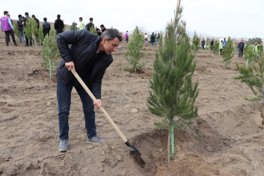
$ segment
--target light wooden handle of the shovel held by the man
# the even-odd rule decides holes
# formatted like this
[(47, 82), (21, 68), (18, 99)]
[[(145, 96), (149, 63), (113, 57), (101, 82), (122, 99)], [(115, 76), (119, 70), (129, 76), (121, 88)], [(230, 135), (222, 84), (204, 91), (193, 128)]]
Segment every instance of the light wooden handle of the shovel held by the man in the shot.
[[(82, 85), (82, 87), (84, 88), (84, 90), (87, 92), (87, 94), (89, 94), (89, 96), (91, 97), (91, 99), (98, 103), (97, 99), (95, 98), (94, 94), (92, 94), (92, 92), (89, 90), (89, 88), (87, 87), (87, 85), (82, 81), (82, 78), (77, 74), (77, 72), (75, 71), (75, 73), (73, 72), (73, 69), (71, 70), (73, 75), (76, 77), (76, 79), (80, 82), (80, 84)], [(122, 134), (122, 132), (120, 131), (120, 129), (118, 128), (117, 125), (115, 125), (115, 122), (112, 120), (112, 118), (110, 117), (110, 115), (108, 115), (108, 113), (106, 113), (106, 110), (104, 110), (103, 106), (101, 106), (100, 110), (103, 112), (103, 115), (107, 118), (107, 120), (111, 123), (112, 127), (115, 129), (115, 132), (117, 132), (119, 134), (119, 136), (121, 137), (123, 142), (127, 142), (127, 138), (124, 136), (124, 134)]]

